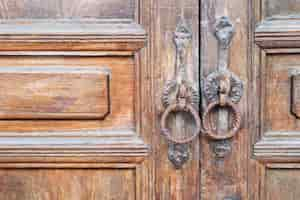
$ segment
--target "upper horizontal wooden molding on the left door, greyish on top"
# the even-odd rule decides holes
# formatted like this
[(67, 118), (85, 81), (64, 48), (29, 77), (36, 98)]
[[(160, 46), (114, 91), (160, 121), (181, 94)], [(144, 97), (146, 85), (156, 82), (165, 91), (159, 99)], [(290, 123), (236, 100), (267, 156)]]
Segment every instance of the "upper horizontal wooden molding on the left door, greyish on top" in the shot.
[(146, 32), (130, 20), (3, 20), (1, 51), (137, 51)]

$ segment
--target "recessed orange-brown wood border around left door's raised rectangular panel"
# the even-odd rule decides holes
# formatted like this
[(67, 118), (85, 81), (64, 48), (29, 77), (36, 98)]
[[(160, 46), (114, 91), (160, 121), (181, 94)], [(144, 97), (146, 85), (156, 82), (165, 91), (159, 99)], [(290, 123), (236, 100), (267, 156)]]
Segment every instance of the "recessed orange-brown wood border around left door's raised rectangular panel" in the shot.
[(5, 131), (30, 135), (30, 132), (33, 131), (134, 129), (135, 66), (132, 57), (114, 57), (112, 59), (112, 57), (97, 56), (0, 56), (0, 67), (26, 68), (28, 66), (31, 68), (64, 66), (70, 69), (79, 66), (83, 70), (93, 67), (100, 71), (103, 68), (109, 68), (111, 71), (110, 115), (105, 120), (0, 120), (0, 129), (2, 130), (0, 135), (3, 135)]

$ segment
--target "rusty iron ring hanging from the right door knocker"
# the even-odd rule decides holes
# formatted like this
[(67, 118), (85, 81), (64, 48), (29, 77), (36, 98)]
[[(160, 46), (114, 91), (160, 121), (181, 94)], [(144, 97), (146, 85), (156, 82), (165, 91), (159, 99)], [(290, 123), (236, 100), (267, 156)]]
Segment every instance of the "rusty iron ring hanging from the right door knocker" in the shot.
[[(211, 120), (210, 120), (210, 114), (211, 112), (217, 108), (217, 107), (229, 107), (233, 112), (233, 126), (230, 130), (228, 130), (227, 133), (224, 134), (217, 134), (217, 131), (213, 129)], [(237, 134), (239, 129), (241, 128), (241, 113), (238, 110), (237, 106), (229, 99), (226, 99), (224, 104), (222, 105), (220, 101), (214, 101), (210, 103), (206, 109), (206, 111), (203, 114), (203, 128), (206, 132), (207, 136), (213, 140), (225, 140), (230, 139), (234, 135)]]

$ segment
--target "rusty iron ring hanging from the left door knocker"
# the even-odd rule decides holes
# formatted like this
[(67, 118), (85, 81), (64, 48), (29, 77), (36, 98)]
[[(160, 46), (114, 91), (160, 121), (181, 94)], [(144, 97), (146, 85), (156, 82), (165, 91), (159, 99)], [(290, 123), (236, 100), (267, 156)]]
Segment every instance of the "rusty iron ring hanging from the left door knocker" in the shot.
[[(171, 113), (176, 112), (186, 112), (191, 114), (194, 118), (196, 123), (196, 130), (191, 137), (183, 138), (183, 139), (176, 139), (171, 136), (170, 130), (167, 128), (167, 119)], [(198, 111), (191, 105), (187, 104), (186, 106), (182, 107), (178, 104), (171, 104), (168, 106), (161, 117), (161, 133), (171, 142), (176, 144), (186, 144), (193, 141), (201, 132), (201, 120), (198, 114)]]

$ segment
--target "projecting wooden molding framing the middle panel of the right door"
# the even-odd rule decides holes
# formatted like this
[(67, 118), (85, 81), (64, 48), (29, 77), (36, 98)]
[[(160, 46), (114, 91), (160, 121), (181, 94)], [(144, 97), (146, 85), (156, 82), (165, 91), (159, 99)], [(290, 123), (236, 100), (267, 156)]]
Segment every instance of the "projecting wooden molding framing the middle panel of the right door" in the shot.
[[(300, 18), (293, 16), (278, 16), (267, 18), (255, 29), (255, 43), (260, 49), (260, 73), (266, 73), (267, 57), (276, 54), (300, 53)], [(288, 69), (287, 69), (288, 70)], [(264, 99), (266, 83), (261, 78), (260, 94)], [(290, 89), (290, 88), (288, 88)], [(299, 161), (300, 132), (299, 131), (264, 131), (264, 101), (260, 100), (259, 122), (260, 138), (253, 146), (253, 154), (258, 160), (278, 162)], [(291, 113), (292, 114), (292, 113)]]

